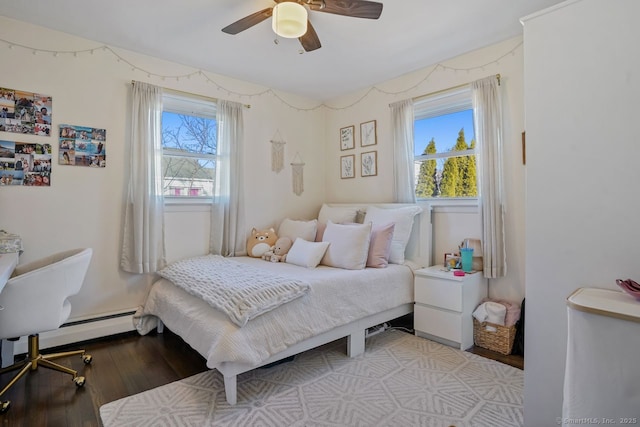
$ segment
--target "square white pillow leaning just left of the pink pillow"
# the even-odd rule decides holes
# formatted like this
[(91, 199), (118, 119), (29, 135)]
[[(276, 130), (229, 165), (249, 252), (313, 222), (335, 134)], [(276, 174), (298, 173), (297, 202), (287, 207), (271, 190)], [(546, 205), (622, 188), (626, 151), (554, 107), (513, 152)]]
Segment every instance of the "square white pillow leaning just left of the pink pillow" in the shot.
[(327, 222), (323, 242), (330, 245), (322, 258), (322, 264), (347, 270), (362, 270), (369, 256), (371, 223), (334, 224)]

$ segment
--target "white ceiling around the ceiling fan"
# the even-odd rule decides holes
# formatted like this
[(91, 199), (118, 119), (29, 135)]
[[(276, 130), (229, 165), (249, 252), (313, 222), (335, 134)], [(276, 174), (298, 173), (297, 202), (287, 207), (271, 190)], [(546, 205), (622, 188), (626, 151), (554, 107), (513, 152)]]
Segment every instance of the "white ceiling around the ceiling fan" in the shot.
[(298, 40), (274, 43), (270, 19), (221, 31), (272, 0), (14, 0), (0, 15), (327, 100), (517, 36), (519, 18), (560, 2), (392, 0), (378, 20), (312, 11), (322, 48), (303, 54)]

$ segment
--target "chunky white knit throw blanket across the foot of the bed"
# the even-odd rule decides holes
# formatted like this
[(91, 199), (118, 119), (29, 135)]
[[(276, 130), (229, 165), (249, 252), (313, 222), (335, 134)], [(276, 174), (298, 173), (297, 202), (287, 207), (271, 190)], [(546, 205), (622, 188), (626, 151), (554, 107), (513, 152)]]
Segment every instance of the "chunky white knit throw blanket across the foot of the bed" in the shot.
[(240, 327), (310, 290), (305, 281), (219, 255), (177, 261), (158, 274), (191, 295), (202, 298)]

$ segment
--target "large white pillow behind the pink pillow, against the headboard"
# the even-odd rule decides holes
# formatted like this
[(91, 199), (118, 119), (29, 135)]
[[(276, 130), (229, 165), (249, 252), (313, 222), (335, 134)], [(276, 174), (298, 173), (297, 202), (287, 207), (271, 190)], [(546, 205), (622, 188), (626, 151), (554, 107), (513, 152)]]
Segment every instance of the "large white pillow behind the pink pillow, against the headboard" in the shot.
[(389, 262), (391, 264), (404, 263), (404, 250), (407, 247), (413, 228), (413, 218), (422, 212), (420, 206), (403, 206), (401, 208), (378, 208), (369, 206), (364, 222), (371, 222), (374, 225), (384, 225), (390, 222), (395, 224), (393, 239), (391, 240), (391, 253)]

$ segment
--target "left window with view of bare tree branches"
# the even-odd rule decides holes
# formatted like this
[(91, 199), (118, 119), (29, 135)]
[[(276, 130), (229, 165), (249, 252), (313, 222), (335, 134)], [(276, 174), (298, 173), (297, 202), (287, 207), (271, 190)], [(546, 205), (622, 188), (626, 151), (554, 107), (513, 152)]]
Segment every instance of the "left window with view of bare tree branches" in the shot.
[(216, 177), (216, 104), (197, 97), (162, 97), (163, 194), (172, 199), (214, 195)]

